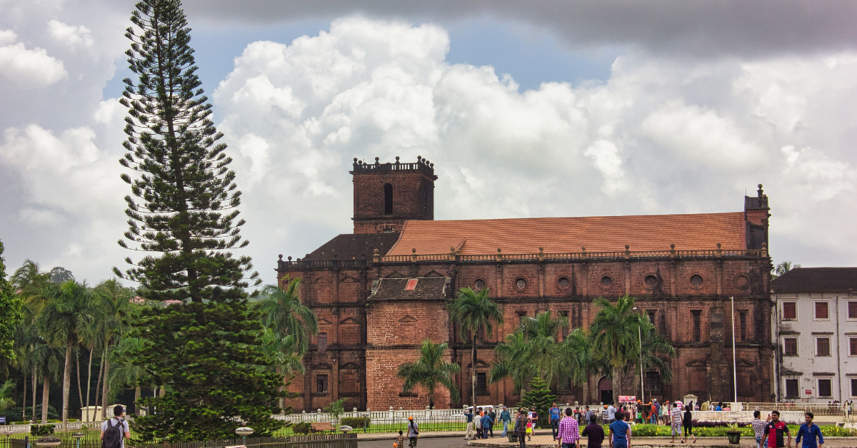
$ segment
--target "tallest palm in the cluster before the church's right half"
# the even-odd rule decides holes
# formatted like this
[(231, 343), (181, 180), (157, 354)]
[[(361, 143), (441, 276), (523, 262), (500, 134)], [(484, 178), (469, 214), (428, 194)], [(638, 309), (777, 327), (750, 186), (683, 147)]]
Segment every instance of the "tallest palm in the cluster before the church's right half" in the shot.
[(622, 296), (613, 305), (603, 297), (595, 300), (599, 309), (590, 325), (593, 357), (609, 364), (613, 393), (621, 392), (621, 371), (637, 360), (638, 328), (644, 320), (633, 311), (634, 299)]

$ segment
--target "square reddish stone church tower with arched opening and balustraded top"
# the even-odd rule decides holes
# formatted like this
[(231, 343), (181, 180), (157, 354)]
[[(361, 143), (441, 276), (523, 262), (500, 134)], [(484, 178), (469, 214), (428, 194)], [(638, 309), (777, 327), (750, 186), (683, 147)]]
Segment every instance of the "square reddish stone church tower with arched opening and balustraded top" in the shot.
[(398, 233), (408, 219), (434, 219), (434, 164), (354, 159), (354, 233)]

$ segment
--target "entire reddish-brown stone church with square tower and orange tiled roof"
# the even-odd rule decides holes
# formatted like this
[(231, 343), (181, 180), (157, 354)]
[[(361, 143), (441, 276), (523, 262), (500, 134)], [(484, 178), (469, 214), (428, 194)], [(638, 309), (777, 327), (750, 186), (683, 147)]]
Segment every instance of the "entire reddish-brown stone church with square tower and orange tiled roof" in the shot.
[[(354, 159), (354, 233), (334, 236), (311, 254), (278, 261), (280, 282), (301, 278), (303, 302), (320, 328), (293, 380), (296, 411), (345, 398), (345, 409), (421, 409), (424, 391), (405, 392), (396, 367), (417, 359), (425, 339), (450, 345), (461, 366), (458, 390), (469, 403), (514, 405), (511, 380), (488, 382), (494, 346), (523, 316), (551, 310), (572, 328), (590, 325), (596, 297), (631, 295), (676, 350), (671, 382), (645, 373), (646, 397), (692, 393), (733, 397), (733, 328), (738, 399), (773, 395), (770, 338), (768, 198), (744, 198), (738, 212), (578, 218), (434, 220), (434, 164), (363, 163)], [(478, 346), (470, 343), (445, 302), (460, 288), (488, 289), (505, 324)], [(734, 314), (730, 297), (734, 297)], [(499, 331), (498, 331), (499, 330)], [(571, 329), (569, 329), (570, 331)], [(564, 331), (560, 337), (564, 337)], [(561, 402), (597, 403), (638, 395), (633, 379), (613, 391), (592, 375), (583, 386), (560, 385)], [(638, 387), (637, 387), (638, 390)], [(437, 408), (459, 407), (435, 392)]]

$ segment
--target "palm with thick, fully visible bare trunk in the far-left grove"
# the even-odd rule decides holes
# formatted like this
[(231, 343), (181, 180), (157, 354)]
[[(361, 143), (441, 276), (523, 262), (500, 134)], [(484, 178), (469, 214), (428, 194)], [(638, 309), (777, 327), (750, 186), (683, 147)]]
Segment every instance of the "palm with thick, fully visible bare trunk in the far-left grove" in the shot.
[(54, 347), (65, 345), (63, 368), (63, 426), (69, 423), (71, 351), (81, 333), (93, 323), (92, 295), (86, 284), (69, 280), (51, 288), (51, 296), (36, 319), (45, 340)]

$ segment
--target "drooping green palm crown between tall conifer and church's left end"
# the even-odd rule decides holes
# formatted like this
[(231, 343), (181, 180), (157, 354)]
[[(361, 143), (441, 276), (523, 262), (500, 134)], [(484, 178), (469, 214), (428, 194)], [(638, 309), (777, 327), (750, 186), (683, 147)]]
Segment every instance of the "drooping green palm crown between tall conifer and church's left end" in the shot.
[(294, 337), (297, 355), (303, 356), (309, 351), (309, 337), (319, 331), (318, 318), (297, 294), (301, 279), (285, 278), (284, 283), (285, 289), (276, 284), (266, 285), (255, 311), (261, 313), (262, 324), (280, 337)]

